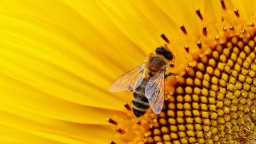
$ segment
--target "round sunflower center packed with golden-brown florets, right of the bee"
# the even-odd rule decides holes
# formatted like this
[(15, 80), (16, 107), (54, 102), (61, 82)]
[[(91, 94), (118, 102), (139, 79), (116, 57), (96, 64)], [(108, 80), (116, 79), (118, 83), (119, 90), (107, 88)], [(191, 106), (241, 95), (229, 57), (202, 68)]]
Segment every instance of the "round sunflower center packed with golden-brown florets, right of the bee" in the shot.
[(147, 142), (256, 142), (255, 40), (232, 37), (180, 77)]

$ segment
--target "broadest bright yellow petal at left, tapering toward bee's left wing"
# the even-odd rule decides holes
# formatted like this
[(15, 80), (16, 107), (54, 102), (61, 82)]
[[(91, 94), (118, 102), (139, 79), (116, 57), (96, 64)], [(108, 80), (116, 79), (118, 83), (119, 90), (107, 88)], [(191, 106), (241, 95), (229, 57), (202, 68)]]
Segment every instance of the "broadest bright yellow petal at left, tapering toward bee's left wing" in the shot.
[[(83, 44), (74, 36), (33, 18), (1, 15), (1, 21), (0, 67), (3, 74), (64, 100), (86, 106), (118, 108), (115, 103), (122, 101), (109, 95), (109, 81), (101, 76), (103, 71), (97, 70), (109, 68), (100, 58), (83, 50)], [(102, 98), (112, 102), (106, 103)]]

